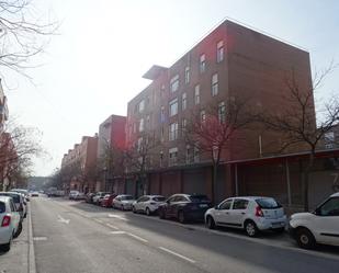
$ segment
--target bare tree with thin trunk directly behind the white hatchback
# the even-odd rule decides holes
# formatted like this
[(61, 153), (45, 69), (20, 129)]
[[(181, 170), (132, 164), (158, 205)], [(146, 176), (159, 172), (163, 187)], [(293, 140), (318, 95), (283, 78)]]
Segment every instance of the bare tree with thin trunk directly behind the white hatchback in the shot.
[(231, 98), (218, 105), (208, 104), (192, 113), (184, 129), (187, 145), (207, 153), (212, 161), (212, 200), (215, 201), (217, 170), (223, 152), (229, 147), (236, 133), (252, 122), (248, 101)]

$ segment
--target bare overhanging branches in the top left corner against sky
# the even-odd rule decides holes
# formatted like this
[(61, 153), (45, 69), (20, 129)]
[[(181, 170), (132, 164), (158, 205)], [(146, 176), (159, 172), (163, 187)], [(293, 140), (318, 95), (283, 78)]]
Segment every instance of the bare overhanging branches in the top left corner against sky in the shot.
[[(42, 23), (30, 0), (0, 1), (0, 66), (25, 75), (30, 60), (42, 53), (56, 23)], [(2, 69), (3, 71), (3, 69)], [(26, 76), (26, 75), (25, 75)]]

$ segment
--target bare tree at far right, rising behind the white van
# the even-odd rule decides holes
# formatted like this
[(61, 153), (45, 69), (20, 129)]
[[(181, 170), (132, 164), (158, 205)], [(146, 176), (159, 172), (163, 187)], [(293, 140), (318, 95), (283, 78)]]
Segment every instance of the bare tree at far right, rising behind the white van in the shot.
[(286, 93), (282, 96), (282, 107), (280, 113), (263, 112), (258, 115), (259, 122), (265, 126), (265, 129), (278, 133), (283, 137), (279, 153), (284, 152), (290, 147), (297, 147), (298, 150), (308, 151), (308, 162), (303, 169), (303, 203), (304, 209), (308, 211), (308, 177), (316, 150), (321, 139), (334, 125), (339, 122), (339, 100), (338, 96), (331, 96), (327, 102), (323, 102), (318, 112), (318, 122), (316, 121), (314, 93), (323, 84), (335, 66), (330, 65), (328, 69), (315, 76), (313, 82), (307, 88), (302, 88), (300, 78), (293, 70), (285, 79)]

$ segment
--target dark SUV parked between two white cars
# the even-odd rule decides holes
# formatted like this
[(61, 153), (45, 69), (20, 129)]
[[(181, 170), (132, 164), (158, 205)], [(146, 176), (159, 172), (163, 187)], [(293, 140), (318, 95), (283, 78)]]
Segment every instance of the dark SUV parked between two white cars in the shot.
[(159, 205), (158, 214), (161, 219), (176, 218), (180, 223), (188, 220), (204, 220), (205, 212), (212, 206), (206, 195), (174, 194), (166, 203)]

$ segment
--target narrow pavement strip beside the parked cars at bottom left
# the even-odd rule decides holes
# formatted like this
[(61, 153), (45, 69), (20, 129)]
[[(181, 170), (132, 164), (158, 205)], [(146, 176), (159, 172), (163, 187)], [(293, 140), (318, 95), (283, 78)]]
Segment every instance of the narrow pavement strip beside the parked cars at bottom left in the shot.
[[(30, 212), (29, 212), (30, 213)], [(13, 240), (9, 252), (0, 252), (0, 273), (27, 273), (30, 249), (30, 216), (23, 221), (21, 235)]]

